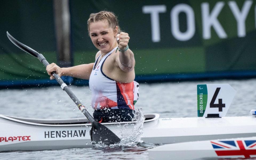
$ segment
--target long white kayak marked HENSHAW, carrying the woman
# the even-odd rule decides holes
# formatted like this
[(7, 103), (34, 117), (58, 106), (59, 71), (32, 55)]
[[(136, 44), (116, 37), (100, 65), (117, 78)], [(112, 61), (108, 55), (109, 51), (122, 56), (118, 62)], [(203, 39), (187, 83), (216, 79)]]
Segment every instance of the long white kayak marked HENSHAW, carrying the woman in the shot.
[[(253, 137), (256, 117), (159, 118), (145, 114), (142, 141), (179, 143), (221, 138)], [(136, 122), (102, 123), (120, 139), (131, 133)], [(0, 151), (59, 150), (92, 147), (91, 124), (86, 118), (32, 119), (0, 115)]]

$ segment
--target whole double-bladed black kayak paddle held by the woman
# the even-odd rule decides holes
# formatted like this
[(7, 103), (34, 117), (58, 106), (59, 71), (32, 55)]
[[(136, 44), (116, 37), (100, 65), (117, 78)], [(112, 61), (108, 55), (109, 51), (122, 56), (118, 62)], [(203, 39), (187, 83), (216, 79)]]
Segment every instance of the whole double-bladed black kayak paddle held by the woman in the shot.
[[(42, 54), (39, 54), (37, 51), (33, 50), (32, 48), (22, 44), (21, 42), (17, 41), (15, 38), (13, 38), (8, 31), (7, 33), (7, 37), (10, 39), (10, 41), (16, 45), (17, 47), (19, 47), (20, 49), (22, 49), (23, 51), (33, 55), (34, 57), (38, 58), (43, 65), (46, 67), (47, 65), (49, 65), (49, 63), (46, 61), (45, 57), (43, 57)], [(81, 110), (81, 112), (87, 117), (87, 119), (91, 122), (91, 131), (90, 131), (90, 135), (91, 135), (91, 140), (95, 141), (95, 144), (97, 144), (98, 142), (102, 142), (105, 145), (111, 145), (114, 143), (118, 143), (120, 142), (120, 139), (117, 137), (117, 135), (115, 135), (111, 130), (109, 130), (107, 127), (105, 127), (104, 125), (102, 125), (101, 123), (95, 121), (95, 119), (89, 114), (89, 112), (85, 109), (85, 107), (81, 104), (81, 102), (77, 99), (77, 97), (75, 97), (75, 95), (73, 94), (73, 92), (69, 89), (69, 87), (66, 85), (66, 83), (64, 83), (62, 81), (62, 79), (59, 77), (58, 74), (56, 74), (56, 72), (52, 72), (51, 73), (53, 75), (53, 77), (58, 81), (58, 83), (61, 85), (61, 88), (66, 91), (66, 93), (69, 95), (69, 97), (75, 102), (75, 104), (78, 106), (79, 110)]]

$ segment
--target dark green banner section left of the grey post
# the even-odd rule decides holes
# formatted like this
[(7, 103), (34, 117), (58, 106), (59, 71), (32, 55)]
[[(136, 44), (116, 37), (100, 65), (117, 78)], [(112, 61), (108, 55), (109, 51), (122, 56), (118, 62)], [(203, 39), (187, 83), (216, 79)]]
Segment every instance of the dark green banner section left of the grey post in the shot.
[(10, 87), (38, 84), (48, 79), (45, 67), (9, 41), (8, 31), (18, 41), (56, 62), (52, 1), (8, 0), (0, 5), (0, 82)]

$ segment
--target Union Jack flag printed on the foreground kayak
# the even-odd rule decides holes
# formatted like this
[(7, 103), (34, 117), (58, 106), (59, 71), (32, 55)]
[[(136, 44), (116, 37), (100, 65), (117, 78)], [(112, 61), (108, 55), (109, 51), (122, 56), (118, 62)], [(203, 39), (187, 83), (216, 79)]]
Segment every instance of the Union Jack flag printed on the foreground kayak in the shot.
[(252, 155), (256, 155), (256, 140), (211, 141), (211, 145), (218, 156), (250, 158)]

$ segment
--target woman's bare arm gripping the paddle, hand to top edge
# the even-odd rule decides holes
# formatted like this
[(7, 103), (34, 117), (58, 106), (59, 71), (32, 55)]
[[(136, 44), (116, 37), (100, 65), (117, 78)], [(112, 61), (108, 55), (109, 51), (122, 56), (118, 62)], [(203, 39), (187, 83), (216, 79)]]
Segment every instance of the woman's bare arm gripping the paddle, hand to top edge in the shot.
[(94, 63), (90, 63), (68, 68), (61, 68), (57, 66), (55, 63), (51, 63), (46, 67), (46, 71), (51, 76), (51, 80), (54, 79), (53, 75), (51, 75), (51, 72), (53, 71), (55, 71), (60, 77), (67, 75), (76, 78), (89, 79), (91, 71), (93, 70), (93, 65)]

